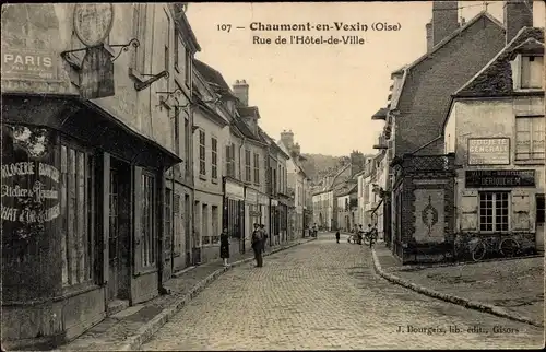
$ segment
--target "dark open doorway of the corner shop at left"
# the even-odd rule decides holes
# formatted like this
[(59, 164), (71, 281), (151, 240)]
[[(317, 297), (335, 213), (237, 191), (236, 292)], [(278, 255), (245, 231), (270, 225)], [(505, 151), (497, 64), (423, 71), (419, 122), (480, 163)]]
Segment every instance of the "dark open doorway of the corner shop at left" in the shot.
[[(131, 166), (111, 157), (108, 232), (108, 308), (129, 304)], [(110, 309), (111, 308), (111, 309)], [(122, 309), (123, 307), (121, 307)], [(116, 309), (118, 310), (118, 309)]]

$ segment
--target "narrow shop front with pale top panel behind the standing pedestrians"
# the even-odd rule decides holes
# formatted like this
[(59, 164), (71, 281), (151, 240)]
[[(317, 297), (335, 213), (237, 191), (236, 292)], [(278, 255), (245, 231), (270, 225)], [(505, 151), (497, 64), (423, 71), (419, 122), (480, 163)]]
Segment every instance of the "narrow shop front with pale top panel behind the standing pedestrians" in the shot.
[(230, 253), (245, 253), (245, 186), (229, 177), (224, 177), (223, 227), (238, 242), (229, 246)]

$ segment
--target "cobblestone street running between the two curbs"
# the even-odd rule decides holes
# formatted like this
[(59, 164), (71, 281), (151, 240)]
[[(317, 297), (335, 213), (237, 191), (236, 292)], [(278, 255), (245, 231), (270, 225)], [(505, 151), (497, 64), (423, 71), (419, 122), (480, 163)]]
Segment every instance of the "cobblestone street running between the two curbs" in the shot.
[[(141, 349), (543, 345), (544, 331), (539, 328), (465, 309), (387, 282), (373, 272), (369, 248), (349, 245), (345, 236), (336, 244), (333, 237), (320, 234), (318, 240), (265, 257), (263, 268), (234, 268)], [(450, 332), (450, 327), (453, 330), (455, 326), (460, 332)]]

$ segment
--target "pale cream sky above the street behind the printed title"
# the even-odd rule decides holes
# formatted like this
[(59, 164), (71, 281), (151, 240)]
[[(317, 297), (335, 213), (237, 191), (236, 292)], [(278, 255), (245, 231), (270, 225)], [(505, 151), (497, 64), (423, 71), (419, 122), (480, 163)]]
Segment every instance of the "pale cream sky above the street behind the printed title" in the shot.
[[(459, 1), (468, 21), (485, 9), (483, 1)], [(502, 22), (502, 1), (487, 10)], [(544, 27), (545, 7), (534, 1), (534, 25)], [(197, 58), (218, 70), (226, 82), (249, 84), (249, 105), (258, 106), (262, 129), (278, 140), (292, 130), (302, 153), (348, 155), (375, 153), (384, 121), (371, 120), (385, 107), (391, 72), (426, 51), (425, 25), (431, 1), (190, 3), (187, 16), (201, 46)], [(278, 36), (340, 37), (339, 32), (252, 32), (250, 23), (388, 23), (399, 31), (346, 32), (364, 45), (283, 45)], [(230, 31), (223, 31), (230, 25)], [(244, 28), (236, 28), (237, 26)], [(254, 44), (253, 36), (272, 44)]]

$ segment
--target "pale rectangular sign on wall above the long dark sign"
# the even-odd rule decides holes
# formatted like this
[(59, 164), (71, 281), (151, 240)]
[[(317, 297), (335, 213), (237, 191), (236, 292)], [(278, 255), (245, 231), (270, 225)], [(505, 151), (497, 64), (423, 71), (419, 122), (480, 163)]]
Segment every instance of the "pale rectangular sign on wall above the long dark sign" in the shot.
[(468, 165), (509, 164), (509, 138), (468, 138)]

